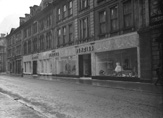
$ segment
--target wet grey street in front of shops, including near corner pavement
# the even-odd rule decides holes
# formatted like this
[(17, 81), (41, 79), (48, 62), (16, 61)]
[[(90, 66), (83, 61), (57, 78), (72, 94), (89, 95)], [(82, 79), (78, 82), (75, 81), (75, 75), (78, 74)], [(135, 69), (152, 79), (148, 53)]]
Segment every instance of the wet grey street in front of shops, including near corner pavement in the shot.
[(161, 102), (158, 93), (0, 75), (0, 118), (20, 118), (8, 116), (20, 108), (21, 118), (162, 118)]

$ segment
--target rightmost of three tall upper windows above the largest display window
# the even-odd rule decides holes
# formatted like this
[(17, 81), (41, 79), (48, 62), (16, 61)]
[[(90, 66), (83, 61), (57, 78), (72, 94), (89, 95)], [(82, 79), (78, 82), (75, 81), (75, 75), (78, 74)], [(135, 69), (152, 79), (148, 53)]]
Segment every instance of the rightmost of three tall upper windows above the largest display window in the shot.
[(132, 26), (131, 0), (128, 0), (123, 3), (123, 21), (124, 21), (124, 28), (128, 28)]

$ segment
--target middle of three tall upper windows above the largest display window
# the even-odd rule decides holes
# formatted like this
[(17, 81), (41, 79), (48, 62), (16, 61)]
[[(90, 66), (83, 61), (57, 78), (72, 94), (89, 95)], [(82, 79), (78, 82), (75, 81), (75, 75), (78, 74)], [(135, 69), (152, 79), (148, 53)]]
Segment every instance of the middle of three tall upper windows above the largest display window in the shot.
[(114, 6), (110, 9), (111, 15), (111, 30), (118, 30), (118, 6)]

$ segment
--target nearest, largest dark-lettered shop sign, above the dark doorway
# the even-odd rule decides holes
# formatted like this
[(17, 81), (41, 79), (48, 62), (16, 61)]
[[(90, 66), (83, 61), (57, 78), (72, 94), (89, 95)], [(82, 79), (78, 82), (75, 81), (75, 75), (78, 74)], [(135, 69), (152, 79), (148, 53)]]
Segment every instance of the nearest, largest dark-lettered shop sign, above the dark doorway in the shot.
[(88, 46), (83, 46), (83, 47), (77, 47), (76, 48), (76, 53), (81, 54), (81, 53), (88, 53), (94, 51), (94, 45), (88, 45)]

